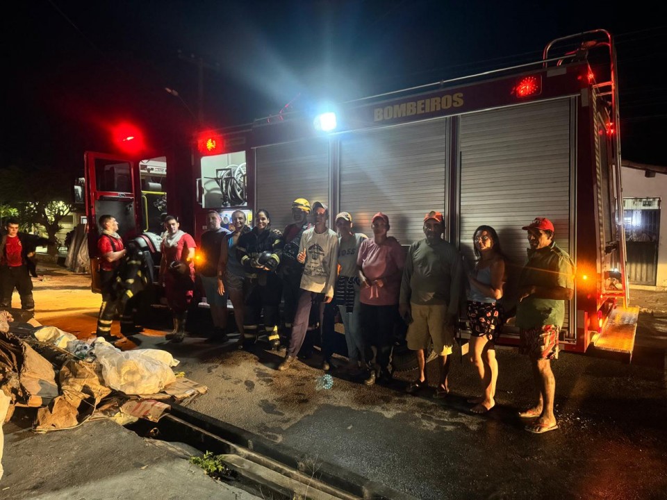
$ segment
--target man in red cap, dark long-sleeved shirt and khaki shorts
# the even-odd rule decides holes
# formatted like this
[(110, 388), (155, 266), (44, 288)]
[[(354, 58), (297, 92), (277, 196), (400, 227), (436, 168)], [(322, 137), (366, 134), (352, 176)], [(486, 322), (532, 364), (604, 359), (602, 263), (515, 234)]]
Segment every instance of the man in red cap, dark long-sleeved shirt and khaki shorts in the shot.
[(439, 356), (440, 380), (434, 397), (447, 396), (448, 355), (454, 346), (454, 323), (459, 316), (461, 255), (453, 244), (443, 240), (443, 214), (431, 211), (424, 217), (426, 238), (411, 244), (405, 260), (399, 310), (409, 322), (409, 349), (417, 351), (419, 377), (407, 387), (416, 392), (428, 386), (426, 349), (429, 340)]

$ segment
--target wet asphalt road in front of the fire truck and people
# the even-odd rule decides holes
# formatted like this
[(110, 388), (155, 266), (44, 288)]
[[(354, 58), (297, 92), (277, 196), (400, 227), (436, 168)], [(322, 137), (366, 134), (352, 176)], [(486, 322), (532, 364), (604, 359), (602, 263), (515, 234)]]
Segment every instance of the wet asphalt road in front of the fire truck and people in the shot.
[[(47, 280), (35, 282), (38, 321), (90, 335), (100, 299), (87, 278), (44, 272)], [(641, 327), (658, 342), (666, 327), (656, 317), (645, 321), (652, 309)], [(664, 364), (561, 353), (554, 362), (559, 429), (532, 435), (517, 415), (533, 402), (529, 367), (511, 349), (497, 353), (497, 407), (479, 416), (466, 403), (477, 395), (475, 378), (459, 353), (452, 394), (436, 400), (431, 392), (404, 393), (414, 372), (387, 387), (334, 372), (326, 389), (318, 356), (277, 372), (281, 356), (262, 344), (237, 350), (210, 344), (199, 331), (174, 345), (164, 333), (138, 335), (138, 347), (172, 352), (177, 370), (208, 386), (190, 408), (302, 451), (315, 468), (339, 465), (419, 499), (667, 498)]]

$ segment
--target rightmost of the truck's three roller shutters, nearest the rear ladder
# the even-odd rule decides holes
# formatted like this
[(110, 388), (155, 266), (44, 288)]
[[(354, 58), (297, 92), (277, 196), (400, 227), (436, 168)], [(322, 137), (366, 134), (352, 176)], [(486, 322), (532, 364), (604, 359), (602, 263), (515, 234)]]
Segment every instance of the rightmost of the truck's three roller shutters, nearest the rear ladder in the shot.
[(535, 217), (550, 219), (556, 243), (573, 255), (570, 103), (559, 99), (461, 116), (459, 242), (466, 258), (472, 258), (475, 229), (488, 224), (516, 274), (527, 258), (521, 227)]

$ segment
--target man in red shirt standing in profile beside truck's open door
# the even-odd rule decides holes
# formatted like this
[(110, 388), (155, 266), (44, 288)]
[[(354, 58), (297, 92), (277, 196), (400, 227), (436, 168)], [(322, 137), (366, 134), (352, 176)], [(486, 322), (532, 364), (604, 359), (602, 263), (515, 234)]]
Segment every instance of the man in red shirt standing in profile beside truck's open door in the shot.
[(99, 226), (102, 231), (97, 240), (97, 255), (99, 256), (99, 278), (102, 290), (102, 305), (97, 318), (98, 337), (111, 340), (111, 323), (116, 312), (116, 301), (113, 293), (115, 270), (120, 259), (127, 253), (123, 240), (118, 235), (118, 222), (111, 215), (99, 217)]

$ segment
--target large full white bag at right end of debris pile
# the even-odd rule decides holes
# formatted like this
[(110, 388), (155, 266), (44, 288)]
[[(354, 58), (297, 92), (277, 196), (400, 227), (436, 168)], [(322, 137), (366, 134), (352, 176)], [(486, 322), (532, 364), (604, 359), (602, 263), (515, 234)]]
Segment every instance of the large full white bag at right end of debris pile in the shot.
[(135, 349), (122, 352), (103, 339), (94, 342), (108, 387), (125, 394), (154, 394), (176, 381), (172, 367), (179, 364), (167, 351)]

